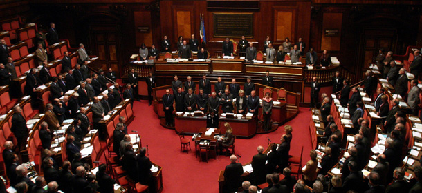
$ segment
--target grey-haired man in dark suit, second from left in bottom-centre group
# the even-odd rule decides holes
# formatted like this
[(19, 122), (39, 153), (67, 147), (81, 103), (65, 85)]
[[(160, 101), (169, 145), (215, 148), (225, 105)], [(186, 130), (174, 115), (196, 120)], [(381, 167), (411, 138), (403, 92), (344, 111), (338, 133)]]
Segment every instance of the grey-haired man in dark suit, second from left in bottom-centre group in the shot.
[(252, 168), (253, 168), (253, 176), (254, 176), (254, 184), (261, 184), (264, 183), (265, 176), (266, 176), (266, 161), (267, 155), (264, 154), (264, 148), (262, 146), (258, 146), (257, 148), (258, 154), (252, 157)]

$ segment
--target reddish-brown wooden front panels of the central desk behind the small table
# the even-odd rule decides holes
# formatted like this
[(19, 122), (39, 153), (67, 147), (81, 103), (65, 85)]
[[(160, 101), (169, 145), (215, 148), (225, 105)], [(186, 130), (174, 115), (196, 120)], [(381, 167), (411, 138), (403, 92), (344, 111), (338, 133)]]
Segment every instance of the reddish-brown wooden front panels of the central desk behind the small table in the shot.
[[(233, 128), (233, 134), (241, 138), (250, 138), (257, 133), (257, 119), (230, 119), (219, 116), (219, 128), (221, 133), (226, 133), (224, 123), (230, 123)], [(207, 116), (183, 116), (175, 115), (174, 129), (176, 132), (185, 132), (186, 134), (198, 133), (201, 128), (206, 128)]]

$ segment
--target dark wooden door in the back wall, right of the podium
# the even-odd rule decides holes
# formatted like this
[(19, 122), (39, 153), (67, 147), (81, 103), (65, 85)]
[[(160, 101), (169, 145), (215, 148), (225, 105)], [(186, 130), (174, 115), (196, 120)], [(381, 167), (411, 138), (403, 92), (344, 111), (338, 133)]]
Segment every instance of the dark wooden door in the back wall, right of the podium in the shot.
[[(382, 48), (387, 54), (390, 50), (396, 50), (396, 29), (374, 29), (365, 28), (360, 38), (360, 66), (363, 68), (361, 74), (369, 69), (369, 64), (378, 55), (378, 51)], [(359, 72), (360, 70), (356, 70)]]

